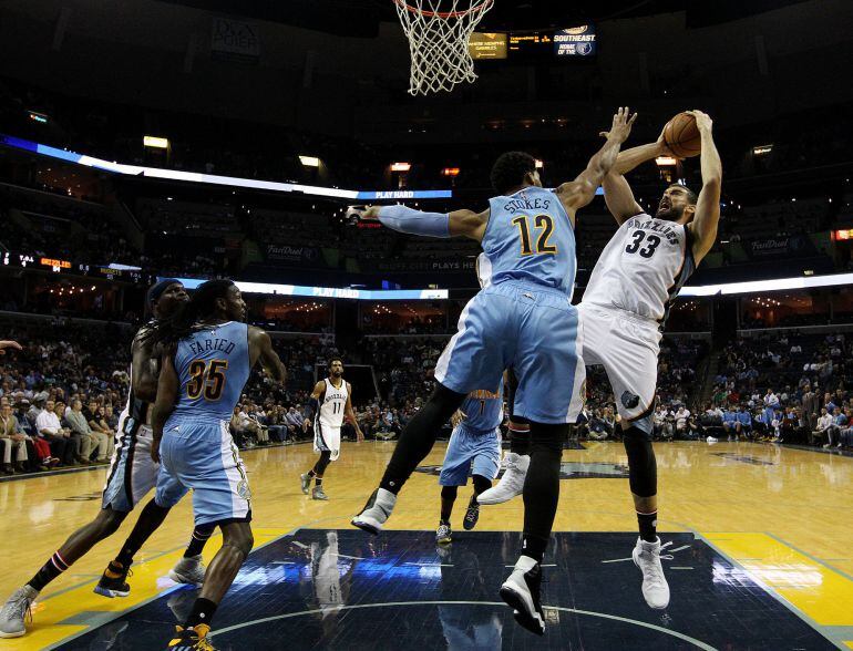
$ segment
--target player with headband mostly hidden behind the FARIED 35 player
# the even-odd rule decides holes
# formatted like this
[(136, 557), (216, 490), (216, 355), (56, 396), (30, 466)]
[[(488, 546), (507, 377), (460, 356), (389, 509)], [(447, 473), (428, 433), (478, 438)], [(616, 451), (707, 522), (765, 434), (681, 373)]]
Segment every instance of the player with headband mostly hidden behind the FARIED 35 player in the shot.
[[(174, 278), (161, 280), (147, 293), (147, 303), (154, 318), (173, 313), (178, 306), (189, 300), (184, 286)], [(115, 452), (110, 463), (106, 485), (101, 500), (101, 510), (91, 523), (79, 528), (51, 556), (28, 583), (16, 590), (0, 610), (0, 638), (17, 638), (27, 632), (25, 616), (30, 604), (44, 587), (64, 572), (73, 562), (88, 554), (97, 542), (112, 536), (136, 504), (154, 487), (158, 466), (151, 459), (152, 433), (150, 406), (157, 392), (158, 369), (153, 363), (154, 351), (143, 343), (147, 331), (143, 326), (131, 345), (131, 388), (127, 406), (119, 420), (115, 435)], [(133, 555), (160, 527), (168, 514), (152, 499), (142, 509), (130, 537), (122, 546), (116, 560), (110, 562), (95, 592), (104, 597), (126, 597), (126, 582)], [(204, 580), (205, 567), (202, 548), (213, 529), (204, 525), (193, 530), (187, 550), (169, 572), (169, 577), (183, 583), (198, 583)]]

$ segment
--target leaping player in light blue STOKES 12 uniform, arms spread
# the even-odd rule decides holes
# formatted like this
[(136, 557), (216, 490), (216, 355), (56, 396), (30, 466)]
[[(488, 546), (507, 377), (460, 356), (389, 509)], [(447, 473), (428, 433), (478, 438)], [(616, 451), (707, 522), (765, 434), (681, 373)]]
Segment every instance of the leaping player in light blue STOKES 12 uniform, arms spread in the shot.
[(352, 525), (380, 531), (442, 424), (471, 391), (496, 386), (504, 369), (513, 369), (518, 379), (514, 413), (531, 422), (531, 462), (522, 555), (501, 595), (515, 609), (516, 620), (538, 634), (545, 630), (539, 564), (559, 498), (563, 441), (585, 397), (583, 340), (571, 304), (575, 213), (593, 200), (635, 117), (619, 108), (605, 145), (586, 169), (554, 190), (542, 187), (532, 156), (510, 152), (492, 168), (497, 196), (481, 213), (422, 213), (405, 206), (351, 209), (401, 232), (479, 241), (485, 258), (481, 275), (489, 280), (462, 311), (459, 331), (435, 368), (435, 392), (403, 430), (379, 488)]

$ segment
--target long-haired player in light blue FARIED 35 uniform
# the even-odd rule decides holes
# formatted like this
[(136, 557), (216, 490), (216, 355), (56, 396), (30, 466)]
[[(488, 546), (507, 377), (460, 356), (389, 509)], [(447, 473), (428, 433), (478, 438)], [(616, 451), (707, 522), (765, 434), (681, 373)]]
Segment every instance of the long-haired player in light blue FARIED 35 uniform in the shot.
[(155, 499), (172, 507), (192, 489), (196, 526), (218, 526), (223, 533), (222, 549), (169, 649), (213, 649), (210, 619), (254, 542), (251, 493), (228, 423), (258, 360), (278, 382), (285, 381), (285, 368), (269, 335), (246, 326), (245, 317), (237, 286), (210, 280), (150, 335), (166, 351), (152, 413), (151, 455), (162, 459)]

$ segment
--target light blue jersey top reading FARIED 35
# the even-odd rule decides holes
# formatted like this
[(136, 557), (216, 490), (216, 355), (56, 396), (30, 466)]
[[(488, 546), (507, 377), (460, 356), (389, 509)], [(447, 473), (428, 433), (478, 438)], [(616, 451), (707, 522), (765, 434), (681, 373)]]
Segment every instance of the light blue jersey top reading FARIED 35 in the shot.
[(182, 339), (175, 352), (181, 380), (172, 418), (228, 421), (249, 378), (248, 326), (205, 326)]

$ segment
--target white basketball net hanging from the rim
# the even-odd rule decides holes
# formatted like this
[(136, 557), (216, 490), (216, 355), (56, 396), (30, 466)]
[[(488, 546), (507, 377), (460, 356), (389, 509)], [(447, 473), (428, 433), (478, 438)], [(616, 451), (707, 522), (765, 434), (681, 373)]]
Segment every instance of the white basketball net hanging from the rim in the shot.
[(411, 95), (452, 91), (473, 82), (471, 32), (494, 0), (393, 0), (412, 55)]

